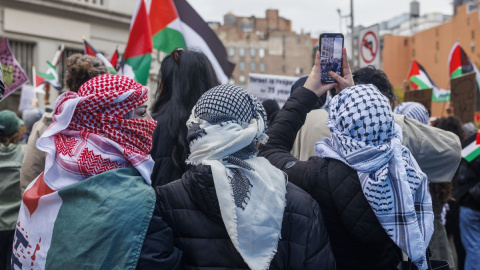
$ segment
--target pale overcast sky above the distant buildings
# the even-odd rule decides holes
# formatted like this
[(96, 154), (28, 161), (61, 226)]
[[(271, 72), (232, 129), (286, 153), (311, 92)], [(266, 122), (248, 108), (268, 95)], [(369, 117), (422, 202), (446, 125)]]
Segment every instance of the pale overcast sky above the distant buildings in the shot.
[[(223, 23), (223, 15), (265, 17), (266, 9), (278, 9), (280, 16), (292, 21), (293, 30), (318, 36), (340, 31), (340, 18), (350, 14), (350, 0), (187, 0), (205, 21)], [(354, 0), (355, 26), (370, 26), (410, 11), (411, 0)], [(452, 15), (453, 0), (419, 0), (420, 15), (440, 12)], [(342, 29), (349, 21), (342, 19)]]

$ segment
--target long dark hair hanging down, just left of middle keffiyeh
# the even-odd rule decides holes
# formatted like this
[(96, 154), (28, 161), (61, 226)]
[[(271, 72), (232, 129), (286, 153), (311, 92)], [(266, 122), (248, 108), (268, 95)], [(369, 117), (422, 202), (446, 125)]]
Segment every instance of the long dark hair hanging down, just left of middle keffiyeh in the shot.
[(193, 106), (203, 93), (220, 83), (212, 64), (202, 52), (186, 50), (174, 53), (176, 59), (168, 55), (160, 66), (152, 112), (154, 118), (163, 115), (167, 119), (165, 128), (168, 128), (172, 140), (171, 155), (178, 172), (186, 171), (185, 160), (190, 149), (185, 123)]

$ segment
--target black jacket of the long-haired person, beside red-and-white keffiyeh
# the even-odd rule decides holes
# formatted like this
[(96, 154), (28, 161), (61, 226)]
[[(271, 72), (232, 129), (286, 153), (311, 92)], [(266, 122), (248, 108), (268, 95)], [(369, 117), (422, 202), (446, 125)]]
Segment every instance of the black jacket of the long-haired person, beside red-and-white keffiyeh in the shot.
[[(152, 187), (163, 186), (182, 176), (185, 171), (177, 169), (172, 158), (172, 142), (168, 133), (168, 121), (163, 114), (155, 116), (157, 127), (153, 132), (153, 147), (150, 151), (155, 165), (152, 171)], [(186, 135), (185, 135), (186, 136)]]

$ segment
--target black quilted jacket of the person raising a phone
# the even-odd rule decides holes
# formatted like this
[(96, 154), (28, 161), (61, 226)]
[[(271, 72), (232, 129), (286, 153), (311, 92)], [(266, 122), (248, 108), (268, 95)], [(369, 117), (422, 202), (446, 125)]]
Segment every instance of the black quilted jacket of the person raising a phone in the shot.
[(370, 208), (357, 172), (338, 160), (310, 157), (299, 161), (290, 154), (316, 100), (308, 89), (295, 90), (269, 127), (270, 138), (260, 147), (259, 155), (282, 169), (291, 183), (319, 203), (337, 269), (397, 269), (400, 250)]

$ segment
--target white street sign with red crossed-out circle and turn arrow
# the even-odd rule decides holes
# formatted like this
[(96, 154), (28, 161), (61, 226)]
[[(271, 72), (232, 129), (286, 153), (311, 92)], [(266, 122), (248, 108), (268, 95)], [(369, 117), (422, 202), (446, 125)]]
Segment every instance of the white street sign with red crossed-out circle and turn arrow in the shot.
[(372, 65), (376, 68), (380, 68), (379, 29), (380, 27), (378, 24), (375, 24), (360, 31), (360, 67)]

